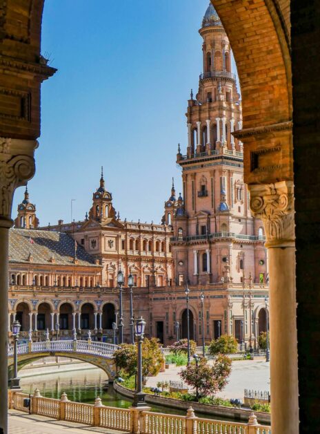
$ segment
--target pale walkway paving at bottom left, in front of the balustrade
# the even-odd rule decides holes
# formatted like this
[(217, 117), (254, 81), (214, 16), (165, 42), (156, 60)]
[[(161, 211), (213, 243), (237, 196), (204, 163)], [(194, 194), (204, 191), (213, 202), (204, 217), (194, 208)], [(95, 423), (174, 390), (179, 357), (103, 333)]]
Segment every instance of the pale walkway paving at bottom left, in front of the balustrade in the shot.
[[(122, 434), (99, 426), (92, 427), (75, 422), (50, 419), (46, 416), (28, 415), (17, 410), (9, 410), (9, 434)], [(124, 433), (123, 433), (124, 434)]]

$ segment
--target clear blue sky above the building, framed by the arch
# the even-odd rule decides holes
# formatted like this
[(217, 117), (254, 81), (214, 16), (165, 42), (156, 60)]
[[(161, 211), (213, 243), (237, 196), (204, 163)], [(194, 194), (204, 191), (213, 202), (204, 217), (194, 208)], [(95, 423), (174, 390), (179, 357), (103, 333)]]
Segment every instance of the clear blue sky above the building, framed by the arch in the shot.
[[(30, 200), (41, 225), (82, 220), (104, 167), (121, 218), (159, 223), (186, 151), (186, 107), (201, 70), (208, 0), (46, 0), (42, 53), (58, 68), (41, 92)], [(90, 6), (88, 6), (90, 4)], [(17, 189), (12, 216), (23, 198)]]

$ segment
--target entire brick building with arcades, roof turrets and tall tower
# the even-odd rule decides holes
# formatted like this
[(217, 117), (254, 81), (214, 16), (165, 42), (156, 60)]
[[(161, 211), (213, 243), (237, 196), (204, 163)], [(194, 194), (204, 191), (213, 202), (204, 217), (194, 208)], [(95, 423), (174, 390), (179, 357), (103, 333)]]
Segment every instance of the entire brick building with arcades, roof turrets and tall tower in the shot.
[[(122, 270), (125, 340), (130, 337), (126, 282), (132, 273), (134, 316), (148, 320), (148, 335), (165, 345), (187, 336), (188, 286), (192, 339), (201, 344), (204, 325), (206, 342), (227, 333), (247, 348), (257, 347), (267, 327), (268, 258), (263, 226), (250, 213), (243, 182), (243, 144), (232, 135), (242, 121), (230, 43), (211, 5), (199, 33), (204, 72), (197, 97), (191, 94), (188, 101), (186, 155), (180, 145), (177, 153), (183, 194), (177, 198), (172, 182), (162, 225), (121, 220), (103, 173), (92, 207), (79, 222), (59, 220), (35, 229), (39, 222), (26, 191), (10, 248), (17, 249), (14, 239), (22, 234), (29, 249), (41, 249), (46, 238), (57, 237), (58, 244), (65, 239), (70, 263), (55, 258), (53, 244), (42, 262), (30, 261), (28, 249), (19, 260), (10, 259), (10, 318), (23, 316), (25, 334), (42, 339), (46, 328), (54, 334), (59, 323), (63, 336), (76, 329), (86, 337), (92, 330), (94, 338), (110, 341)], [(80, 252), (87, 255), (84, 263)]]

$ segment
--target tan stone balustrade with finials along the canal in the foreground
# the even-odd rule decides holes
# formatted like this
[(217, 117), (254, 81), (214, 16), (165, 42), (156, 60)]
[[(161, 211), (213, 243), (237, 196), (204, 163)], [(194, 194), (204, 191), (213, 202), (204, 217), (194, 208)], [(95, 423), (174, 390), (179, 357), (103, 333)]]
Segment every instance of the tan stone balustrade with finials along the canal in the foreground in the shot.
[(30, 408), (24, 399), (29, 395), (9, 391), (9, 408), (52, 419), (79, 422), (89, 426), (110, 428), (132, 434), (271, 434), (271, 428), (258, 424), (251, 413), (248, 424), (203, 419), (188, 408), (186, 416), (154, 413), (150, 407), (114, 408), (103, 406), (97, 397), (94, 404), (69, 401), (66, 393), (61, 399), (42, 397), (39, 389), (30, 396)]

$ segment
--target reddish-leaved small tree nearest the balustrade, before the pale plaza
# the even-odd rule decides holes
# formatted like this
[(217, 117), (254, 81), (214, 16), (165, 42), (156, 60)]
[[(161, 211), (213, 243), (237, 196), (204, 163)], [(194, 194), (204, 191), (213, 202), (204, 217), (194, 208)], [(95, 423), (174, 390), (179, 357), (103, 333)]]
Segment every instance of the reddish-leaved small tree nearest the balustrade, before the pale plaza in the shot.
[(207, 397), (215, 395), (226, 386), (230, 372), (230, 358), (219, 354), (213, 366), (203, 357), (199, 360), (198, 366), (195, 363), (189, 364), (179, 375), (188, 386), (198, 390), (199, 397)]

